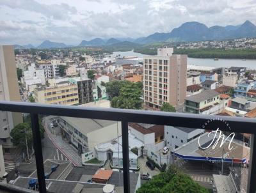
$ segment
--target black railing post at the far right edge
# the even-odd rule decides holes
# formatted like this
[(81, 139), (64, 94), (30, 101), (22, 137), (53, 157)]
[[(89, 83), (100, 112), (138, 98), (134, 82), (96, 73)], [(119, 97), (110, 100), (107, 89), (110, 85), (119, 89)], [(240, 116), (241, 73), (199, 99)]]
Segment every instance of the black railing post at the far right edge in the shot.
[(256, 192), (256, 134), (251, 135), (247, 192)]

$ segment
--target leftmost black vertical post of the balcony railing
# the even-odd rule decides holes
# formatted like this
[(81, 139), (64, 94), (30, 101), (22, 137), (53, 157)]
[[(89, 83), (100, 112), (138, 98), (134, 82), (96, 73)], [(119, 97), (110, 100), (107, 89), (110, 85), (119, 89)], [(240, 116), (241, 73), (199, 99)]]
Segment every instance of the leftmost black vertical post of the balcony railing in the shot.
[(37, 179), (39, 184), (39, 192), (46, 193), (45, 187), (45, 173), (44, 173), (44, 160), (42, 154), (42, 144), (41, 144), (41, 136), (40, 136), (40, 127), (38, 123), (38, 114), (30, 114), (31, 118), (31, 127), (33, 134), (33, 144), (35, 149), (35, 157), (36, 157), (36, 171), (37, 171)]

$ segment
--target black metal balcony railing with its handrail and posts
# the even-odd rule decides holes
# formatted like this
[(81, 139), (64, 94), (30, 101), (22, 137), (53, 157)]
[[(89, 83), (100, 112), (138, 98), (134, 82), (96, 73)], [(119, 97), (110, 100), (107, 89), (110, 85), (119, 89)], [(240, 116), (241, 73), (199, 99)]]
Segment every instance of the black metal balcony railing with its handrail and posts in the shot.
[[(91, 118), (98, 120), (111, 120), (122, 122), (122, 152), (124, 192), (130, 192), (129, 178), (129, 143), (128, 123), (150, 123), (156, 125), (172, 125), (178, 127), (202, 128), (202, 125), (211, 119), (228, 121), (232, 132), (248, 133), (251, 135), (250, 166), (248, 175), (247, 192), (256, 192), (256, 119), (237, 118), (229, 116), (208, 116), (199, 114), (184, 114), (178, 112), (138, 111), (128, 109), (113, 109), (99, 107), (79, 107), (67, 105), (45, 105), (24, 102), (0, 101), (0, 111), (25, 112), (31, 114), (31, 127), (35, 147), (36, 168), (40, 192), (46, 192), (44, 178), (44, 163), (38, 114), (70, 116), (75, 118)], [(212, 129), (218, 128), (218, 121), (212, 122)], [(228, 128), (223, 130), (230, 131)]]

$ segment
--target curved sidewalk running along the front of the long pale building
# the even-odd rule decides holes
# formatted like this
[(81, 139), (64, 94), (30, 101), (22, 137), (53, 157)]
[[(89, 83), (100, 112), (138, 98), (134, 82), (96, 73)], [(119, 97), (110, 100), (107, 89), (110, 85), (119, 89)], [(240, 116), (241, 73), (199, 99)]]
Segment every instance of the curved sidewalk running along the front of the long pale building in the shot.
[(63, 141), (61, 135), (54, 135), (51, 133), (48, 124), (49, 118), (44, 118), (44, 129), (46, 134), (48, 135), (49, 139), (51, 139), (54, 146), (65, 155), (75, 166), (82, 166), (81, 156), (74, 150), (70, 144), (66, 141)]

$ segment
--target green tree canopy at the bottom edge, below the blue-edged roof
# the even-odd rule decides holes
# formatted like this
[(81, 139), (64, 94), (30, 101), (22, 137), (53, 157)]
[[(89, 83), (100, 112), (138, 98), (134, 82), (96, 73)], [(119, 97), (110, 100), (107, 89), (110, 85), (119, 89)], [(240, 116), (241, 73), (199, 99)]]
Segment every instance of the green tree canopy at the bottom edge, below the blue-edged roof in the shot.
[(144, 183), (136, 193), (208, 193), (209, 190), (201, 187), (184, 174), (177, 167), (170, 166), (166, 172), (153, 176), (152, 180)]

